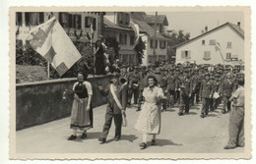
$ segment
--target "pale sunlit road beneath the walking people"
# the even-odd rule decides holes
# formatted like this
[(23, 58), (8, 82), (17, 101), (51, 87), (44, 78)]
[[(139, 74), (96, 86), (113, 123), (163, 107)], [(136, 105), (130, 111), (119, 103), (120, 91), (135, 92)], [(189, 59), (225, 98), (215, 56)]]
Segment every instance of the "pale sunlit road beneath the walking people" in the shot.
[[(69, 141), (72, 131), (69, 129), (70, 118), (53, 121), (17, 132), (17, 153), (222, 153), (243, 152), (244, 148), (224, 150), (228, 139), (228, 114), (221, 110), (210, 113), (209, 117), (200, 118), (200, 105), (192, 107), (190, 114), (178, 116), (178, 108), (161, 113), (161, 133), (157, 145), (145, 150), (139, 148), (141, 134), (134, 130), (139, 116), (136, 107), (127, 109), (128, 126), (122, 129), (122, 138), (114, 141), (114, 124), (105, 144), (99, 144), (104, 122), (106, 105), (95, 108), (95, 127), (89, 131), (88, 138)], [(149, 138), (151, 139), (151, 138)]]

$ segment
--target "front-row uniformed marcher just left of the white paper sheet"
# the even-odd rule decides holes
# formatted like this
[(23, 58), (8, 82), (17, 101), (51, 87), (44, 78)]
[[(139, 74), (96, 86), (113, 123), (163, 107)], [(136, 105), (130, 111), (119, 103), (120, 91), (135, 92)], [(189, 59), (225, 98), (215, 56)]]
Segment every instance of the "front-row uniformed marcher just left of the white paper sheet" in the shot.
[(201, 82), (200, 93), (202, 97), (201, 117), (205, 118), (209, 112), (210, 98), (213, 96), (213, 82), (210, 81), (209, 73), (205, 74), (205, 80)]

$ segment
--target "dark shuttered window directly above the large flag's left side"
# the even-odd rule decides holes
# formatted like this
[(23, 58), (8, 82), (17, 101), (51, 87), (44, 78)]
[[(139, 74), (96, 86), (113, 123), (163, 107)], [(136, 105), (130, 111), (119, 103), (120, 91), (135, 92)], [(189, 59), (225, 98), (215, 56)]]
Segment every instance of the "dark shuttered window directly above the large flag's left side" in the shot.
[(40, 13), (25, 13), (25, 24), (27, 27), (38, 26), (44, 23), (44, 14)]

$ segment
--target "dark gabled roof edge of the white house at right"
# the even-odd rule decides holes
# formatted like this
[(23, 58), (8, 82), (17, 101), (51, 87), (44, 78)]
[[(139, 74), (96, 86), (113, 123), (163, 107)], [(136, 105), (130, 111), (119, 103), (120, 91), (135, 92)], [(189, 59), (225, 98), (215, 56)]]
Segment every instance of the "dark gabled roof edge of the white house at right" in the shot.
[(217, 29), (219, 29), (219, 28), (221, 28), (221, 27), (225, 27), (225, 26), (231, 27), (239, 36), (241, 36), (241, 37), (244, 39), (244, 30), (243, 30), (241, 27), (238, 27), (237, 25), (234, 25), (234, 24), (231, 24), (231, 23), (228, 23), (228, 22), (227, 22), (227, 23), (225, 23), (224, 25), (222, 25), (222, 26), (220, 26), (220, 27), (215, 27), (215, 28), (213, 28), (213, 29), (211, 29), (211, 30), (209, 30), (209, 31), (207, 31), (207, 32), (204, 32), (204, 33), (202, 33), (202, 34), (200, 34), (200, 35), (198, 35), (198, 36), (196, 36), (196, 37), (193, 37), (193, 38), (191, 38), (191, 39), (189, 39), (189, 40), (187, 40), (187, 41), (184, 41), (184, 42), (182, 42), (182, 43), (180, 43), (180, 44), (178, 44), (178, 45), (175, 45), (175, 46), (173, 46), (172, 48), (180, 47), (180, 46), (182, 46), (182, 45), (184, 45), (184, 44), (189, 43), (190, 41), (193, 41), (193, 40), (195, 40), (195, 39), (198, 39), (198, 38), (200, 38), (200, 37), (202, 37), (202, 36), (204, 36), (204, 35), (206, 35), (206, 34), (209, 34), (209, 33), (213, 32), (213, 31), (215, 31), (215, 30), (217, 30)]

